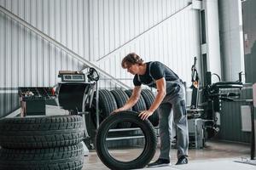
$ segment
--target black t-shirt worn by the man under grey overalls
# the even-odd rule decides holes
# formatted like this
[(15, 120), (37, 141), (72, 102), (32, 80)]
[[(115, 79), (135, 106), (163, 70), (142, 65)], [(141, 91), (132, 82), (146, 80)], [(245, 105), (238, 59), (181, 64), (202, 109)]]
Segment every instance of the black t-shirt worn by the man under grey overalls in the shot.
[(151, 61), (146, 63), (147, 68), (144, 75), (135, 75), (133, 78), (134, 86), (141, 86), (142, 84), (148, 85), (150, 88), (156, 88), (155, 81), (162, 77), (166, 81), (176, 81), (179, 79), (169, 67), (160, 63), (159, 61)]

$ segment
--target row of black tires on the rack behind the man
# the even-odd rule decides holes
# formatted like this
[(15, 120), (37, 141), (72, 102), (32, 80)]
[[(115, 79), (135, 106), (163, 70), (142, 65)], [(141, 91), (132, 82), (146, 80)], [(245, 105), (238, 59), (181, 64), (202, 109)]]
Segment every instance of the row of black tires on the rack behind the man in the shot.
[[(107, 89), (100, 89), (99, 90), (99, 122), (101, 123), (106, 117), (108, 117), (112, 111), (118, 109), (119, 107), (125, 105), (127, 99), (132, 94), (132, 90), (121, 90), (121, 89), (114, 89), (111, 91), (108, 91)], [(142, 94), (140, 96), (140, 99), (137, 101), (137, 104), (132, 107), (129, 111), (145, 111), (148, 110), (149, 107), (154, 102), (154, 94), (148, 90), (143, 89)], [(93, 102), (93, 113), (96, 112), (96, 100)], [(92, 114), (92, 121), (96, 125), (96, 114)], [(149, 122), (152, 123), (154, 127), (158, 126), (159, 117), (158, 117), (158, 111), (154, 111), (154, 114), (152, 116), (149, 116), (148, 118)], [(119, 123), (117, 125), (118, 128), (129, 128), (129, 127), (135, 127), (132, 123), (124, 122)]]

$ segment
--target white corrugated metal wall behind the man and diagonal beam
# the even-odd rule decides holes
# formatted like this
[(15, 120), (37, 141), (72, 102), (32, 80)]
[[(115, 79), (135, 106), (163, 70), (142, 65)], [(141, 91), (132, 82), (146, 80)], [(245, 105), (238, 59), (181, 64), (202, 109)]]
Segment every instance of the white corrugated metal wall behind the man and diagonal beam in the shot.
[[(132, 86), (131, 75), (120, 66), (121, 59), (131, 52), (145, 61), (160, 60), (177, 71), (183, 81), (190, 81), (193, 58), (200, 56), (200, 29), (198, 11), (185, 8), (189, 2), (0, 0), (0, 5)], [(2, 94), (7, 88), (17, 90), (19, 86), (53, 86), (58, 71), (79, 70), (82, 66), (2, 13), (0, 35)], [(115, 87), (104, 78), (100, 83), (102, 88)], [(3, 105), (12, 103), (9, 97), (3, 100)], [(9, 109), (4, 109), (3, 115), (6, 111)]]

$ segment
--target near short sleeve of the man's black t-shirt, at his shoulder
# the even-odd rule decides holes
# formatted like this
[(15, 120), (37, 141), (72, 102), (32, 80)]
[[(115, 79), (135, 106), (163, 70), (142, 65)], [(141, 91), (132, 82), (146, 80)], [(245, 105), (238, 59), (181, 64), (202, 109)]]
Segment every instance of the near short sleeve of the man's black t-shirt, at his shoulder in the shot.
[(154, 80), (159, 80), (160, 78), (165, 77), (164, 65), (158, 61), (154, 61), (150, 65), (150, 75), (154, 78)]

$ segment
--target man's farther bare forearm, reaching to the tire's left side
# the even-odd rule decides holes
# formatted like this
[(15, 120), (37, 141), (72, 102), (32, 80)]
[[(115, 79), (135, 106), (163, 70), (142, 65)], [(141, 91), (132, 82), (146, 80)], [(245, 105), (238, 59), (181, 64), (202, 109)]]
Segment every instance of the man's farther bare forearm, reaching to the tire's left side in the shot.
[(133, 88), (131, 97), (126, 101), (125, 105), (113, 112), (126, 111), (130, 109), (133, 105), (137, 103), (137, 100), (140, 99), (141, 92), (142, 92), (141, 86), (136, 86), (135, 88)]

